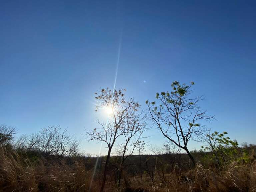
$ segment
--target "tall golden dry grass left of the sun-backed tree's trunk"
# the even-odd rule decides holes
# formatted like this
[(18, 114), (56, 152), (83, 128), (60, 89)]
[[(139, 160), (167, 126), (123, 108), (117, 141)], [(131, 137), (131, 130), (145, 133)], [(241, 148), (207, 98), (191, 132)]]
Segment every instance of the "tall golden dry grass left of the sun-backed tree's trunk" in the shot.
[[(88, 191), (92, 170), (82, 160), (70, 164), (64, 159), (40, 158), (33, 163), (15, 151), (0, 148), (1, 192)], [(94, 182), (91, 191), (98, 191)]]

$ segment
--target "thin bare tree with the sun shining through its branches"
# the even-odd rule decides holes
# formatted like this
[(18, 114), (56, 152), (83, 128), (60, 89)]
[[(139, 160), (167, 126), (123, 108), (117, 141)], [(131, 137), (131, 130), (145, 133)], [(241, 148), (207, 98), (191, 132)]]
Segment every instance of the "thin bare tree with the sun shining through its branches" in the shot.
[(140, 106), (132, 98), (126, 100), (124, 91), (125, 89), (111, 91), (107, 88), (101, 89), (98, 93), (95, 93), (97, 95), (95, 98), (98, 100), (96, 111), (100, 108), (106, 110), (109, 113), (109, 117), (106, 123), (96, 121), (100, 125), (99, 129), (95, 128), (92, 131), (86, 130), (86, 135), (89, 140), (105, 142), (108, 148), (103, 181), (100, 189), (101, 192), (104, 190), (106, 182), (111, 150), (116, 139), (126, 133), (126, 131), (124, 131), (123, 124), (127, 121), (130, 111), (137, 111)]

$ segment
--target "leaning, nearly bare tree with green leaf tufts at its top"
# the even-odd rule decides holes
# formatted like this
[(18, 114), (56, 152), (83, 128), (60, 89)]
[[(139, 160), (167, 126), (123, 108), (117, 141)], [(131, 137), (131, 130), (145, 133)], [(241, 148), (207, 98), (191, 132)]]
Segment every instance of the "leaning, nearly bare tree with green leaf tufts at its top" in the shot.
[[(188, 98), (191, 93), (191, 86), (180, 85), (178, 81), (171, 84), (171, 92), (156, 93), (156, 102), (146, 101), (148, 106), (148, 118), (159, 128), (165, 138), (173, 142), (179, 148), (185, 150), (195, 165), (195, 160), (188, 150), (190, 140), (198, 140), (198, 135), (202, 134), (205, 126), (199, 124), (200, 120), (211, 120), (213, 116), (207, 115), (207, 111), (202, 111), (198, 103), (202, 96)], [(158, 106), (156, 106), (159, 104)]]

